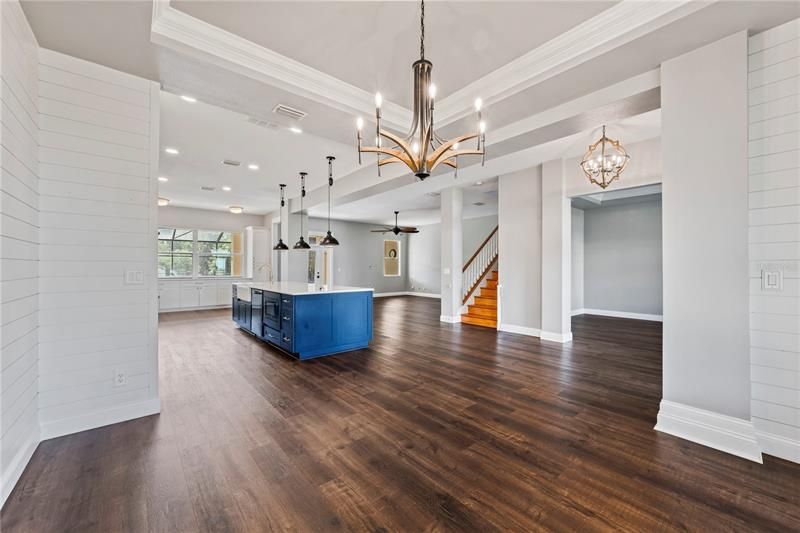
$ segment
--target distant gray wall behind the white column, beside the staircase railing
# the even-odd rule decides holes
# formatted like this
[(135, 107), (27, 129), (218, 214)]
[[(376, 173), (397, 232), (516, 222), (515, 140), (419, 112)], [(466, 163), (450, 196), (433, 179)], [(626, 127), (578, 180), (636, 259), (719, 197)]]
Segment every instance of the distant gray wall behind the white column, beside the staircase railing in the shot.
[[(462, 221), (463, 262), (497, 226), (497, 215), (468, 218)], [(420, 226), (419, 233), (409, 235), (408, 290), (439, 294), (441, 292), (441, 224)]]

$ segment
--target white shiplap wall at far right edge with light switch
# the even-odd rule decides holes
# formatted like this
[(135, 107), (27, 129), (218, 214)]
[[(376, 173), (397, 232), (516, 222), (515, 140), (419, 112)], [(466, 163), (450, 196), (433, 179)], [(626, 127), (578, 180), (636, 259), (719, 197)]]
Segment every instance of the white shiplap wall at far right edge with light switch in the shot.
[(800, 19), (750, 38), (749, 92), (751, 413), (764, 453), (800, 462)]

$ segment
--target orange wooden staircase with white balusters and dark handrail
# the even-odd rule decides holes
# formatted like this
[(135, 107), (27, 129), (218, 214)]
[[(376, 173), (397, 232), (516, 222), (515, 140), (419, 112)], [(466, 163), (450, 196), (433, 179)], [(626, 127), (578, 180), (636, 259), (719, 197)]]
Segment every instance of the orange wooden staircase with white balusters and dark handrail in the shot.
[[(467, 312), (461, 315), (462, 323), (497, 328), (497, 258), (495, 227), (461, 271), (462, 305), (466, 305), (473, 298), (473, 293), (480, 289), (467, 306)], [(490, 269), (493, 270), (489, 272)]]

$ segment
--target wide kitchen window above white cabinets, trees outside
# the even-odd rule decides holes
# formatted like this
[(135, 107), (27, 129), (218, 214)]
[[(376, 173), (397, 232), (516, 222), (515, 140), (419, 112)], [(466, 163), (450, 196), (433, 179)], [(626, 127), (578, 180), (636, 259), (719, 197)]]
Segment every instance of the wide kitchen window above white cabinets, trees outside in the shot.
[(242, 233), (159, 228), (158, 277), (241, 276)]

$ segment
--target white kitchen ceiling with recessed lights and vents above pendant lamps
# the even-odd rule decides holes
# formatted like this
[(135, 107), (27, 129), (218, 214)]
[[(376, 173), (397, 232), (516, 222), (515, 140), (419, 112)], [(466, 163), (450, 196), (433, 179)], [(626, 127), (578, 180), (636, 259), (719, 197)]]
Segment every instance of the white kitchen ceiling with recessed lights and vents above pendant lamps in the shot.
[[(159, 195), (180, 207), (227, 209), (240, 205), (245, 212), (266, 214), (278, 208), (278, 184), (286, 183), (287, 196), (297, 196), (298, 172), (309, 173), (306, 186), (327, 182), (328, 155), (336, 157), (334, 172), (352, 172), (358, 165), (355, 150), (322, 137), (271, 130), (247, 122), (247, 116), (203, 102), (189, 103), (174, 94), (161, 93), (161, 156), (159, 173), (169, 181), (159, 183)], [(174, 147), (179, 155), (164, 148)], [(221, 164), (240, 161), (239, 167)], [(259, 170), (247, 168), (249, 163)], [(203, 186), (215, 187), (204, 191)], [(231, 187), (225, 192), (223, 186)]]

